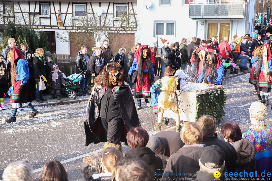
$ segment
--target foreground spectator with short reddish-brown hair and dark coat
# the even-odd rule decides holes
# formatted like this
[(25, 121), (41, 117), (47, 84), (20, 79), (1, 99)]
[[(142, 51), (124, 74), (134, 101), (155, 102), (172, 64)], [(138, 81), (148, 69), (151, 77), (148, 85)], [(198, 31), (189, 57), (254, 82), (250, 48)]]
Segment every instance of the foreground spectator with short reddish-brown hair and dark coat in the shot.
[(125, 157), (144, 161), (151, 170), (154, 170), (154, 172), (157, 170), (156, 173), (160, 173), (160, 176), (155, 176), (155, 178), (161, 178), (163, 174), (162, 159), (156, 157), (155, 153), (149, 147), (146, 147), (148, 139), (149, 135), (145, 129), (140, 127), (130, 128), (126, 135), (130, 150), (125, 153)]

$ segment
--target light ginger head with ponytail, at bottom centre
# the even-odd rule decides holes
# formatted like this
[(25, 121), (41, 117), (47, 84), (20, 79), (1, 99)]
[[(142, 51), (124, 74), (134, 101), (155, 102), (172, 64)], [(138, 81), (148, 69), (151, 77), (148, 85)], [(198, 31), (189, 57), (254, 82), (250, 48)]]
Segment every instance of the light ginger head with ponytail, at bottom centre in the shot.
[(123, 154), (113, 147), (108, 147), (102, 154), (102, 169), (112, 173), (112, 178), (116, 174), (116, 162), (123, 157)]

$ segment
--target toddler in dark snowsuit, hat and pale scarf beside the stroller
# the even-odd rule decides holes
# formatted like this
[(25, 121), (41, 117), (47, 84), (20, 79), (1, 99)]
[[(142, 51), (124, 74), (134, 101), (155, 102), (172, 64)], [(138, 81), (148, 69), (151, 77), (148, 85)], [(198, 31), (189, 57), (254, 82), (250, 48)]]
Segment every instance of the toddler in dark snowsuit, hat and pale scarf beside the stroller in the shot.
[[(60, 100), (61, 84), (65, 85), (65, 80), (61, 71), (58, 70), (58, 65), (53, 65), (53, 71), (50, 72), (48, 87), (51, 85), (51, 99), (55, 99), (55, 96)], [(56, 94), (56, 95), (55, 95)]]

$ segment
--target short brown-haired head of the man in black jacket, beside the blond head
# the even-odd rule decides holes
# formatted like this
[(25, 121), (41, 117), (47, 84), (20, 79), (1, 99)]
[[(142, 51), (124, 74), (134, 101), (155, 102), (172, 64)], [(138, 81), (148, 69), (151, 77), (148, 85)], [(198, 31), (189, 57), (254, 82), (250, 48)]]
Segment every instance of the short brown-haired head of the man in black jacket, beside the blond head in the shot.
[(197, 124), (202, 128), (203, 135), (215, 133), (216, 120), (210, 115), (203, 115), (197, 120)]

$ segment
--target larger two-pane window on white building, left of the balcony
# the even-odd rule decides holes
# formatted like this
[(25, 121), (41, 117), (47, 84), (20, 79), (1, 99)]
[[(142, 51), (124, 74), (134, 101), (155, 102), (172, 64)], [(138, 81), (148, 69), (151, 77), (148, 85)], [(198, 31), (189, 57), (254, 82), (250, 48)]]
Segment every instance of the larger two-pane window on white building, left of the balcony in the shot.
[(155, 22), (155, 36), (175, 37), (175, 22)]

